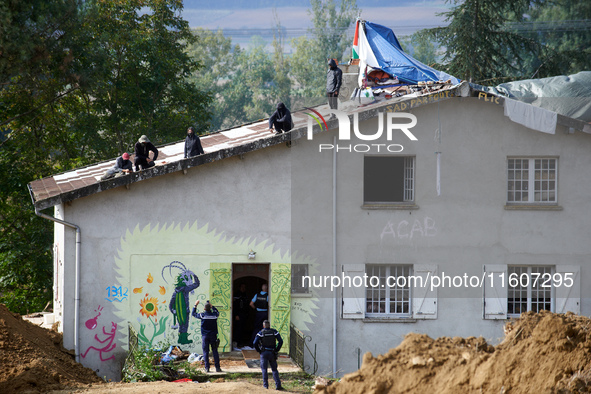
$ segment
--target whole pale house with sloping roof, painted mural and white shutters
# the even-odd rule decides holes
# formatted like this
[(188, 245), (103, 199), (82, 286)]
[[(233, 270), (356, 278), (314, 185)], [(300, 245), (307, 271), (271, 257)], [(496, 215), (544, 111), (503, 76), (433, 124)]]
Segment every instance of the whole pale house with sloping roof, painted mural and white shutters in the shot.
[(525, 311), (590, 315), (590, 119), (513, 101), (425, 89), (213, 133), (190, 159), (169, 144), (128, 176), (100, 181), (107, 161), (31, 182), (54, 207), (64, 346), (113, 379), (130, 326), (199, 352), (199, 321), (170, 307), (186, 294), (218, 306), (228, 351), (242, 283), (269, 285), (272, 326), (308, 336), (319, 374), (409, 332), (495, 343)]

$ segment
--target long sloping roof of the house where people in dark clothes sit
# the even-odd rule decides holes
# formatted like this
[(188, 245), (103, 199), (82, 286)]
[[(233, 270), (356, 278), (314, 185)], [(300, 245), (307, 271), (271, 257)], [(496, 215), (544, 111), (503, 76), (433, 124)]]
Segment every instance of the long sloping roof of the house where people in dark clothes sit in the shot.
[[(459, 86), (459, 85), (458, 85)], [(457, 86), (444, 86), (436, 92), (426, 91), (426, 94), (418, 94), (423, 97), (417, 100), (417, 93), (411, 96), (402, 96), (390, 100), (379, 101), (366, 106), (360, 106), (347, 111), (349, 115), (357, 112), (360, 120), (376, 116), (377, 112), (399, 111), (395, 106), (400, 102), (410, 102), (406, 109), (430, 104), (441, 99), (451, 98), (456, 95)], [(449, 94), (439, 95), (441, 91), (449, 91)], [(414, 104), (413, 104), (414, 100)], [(329, 121), (330, 110), (326, 105), (315, 107), (326, 120), (334, 127), (337, 121)], [(155, 176), (164, 175), (176, 171), (186, 170), (197, 165), (221, 160), (226, 157), (237, 156), (254, 150), (288, 142), (301, 138), (307, 133), (307, 122), (309, 116), (305, 112), (292, 113), (294, 128), (289, 133), (280, 135), (268, 131), (268, 120), (260, 120), (250, 124), (229, 130), (219, 131), (212, 134), (200, 136), (203, 145), (204, 155), (184, 159), (184, 140), (159, 146), (158, 160), (156, 165), (147, 170), (133, 172), (116, 178), (101, 181), (105, 171), (115, 165), (116, 158), (83, 168), (56, 174), (47, 178), (39, 179), (29, 183), (29, 189), (36, 209), (45, 209), (57, 204), (72, 201), (101, 191), (129, 185), (134, 182), (149, 179)], [(314, 132), (320, 128), (314, 125)], [(133, 160), (133, 158), (132, 158)]]

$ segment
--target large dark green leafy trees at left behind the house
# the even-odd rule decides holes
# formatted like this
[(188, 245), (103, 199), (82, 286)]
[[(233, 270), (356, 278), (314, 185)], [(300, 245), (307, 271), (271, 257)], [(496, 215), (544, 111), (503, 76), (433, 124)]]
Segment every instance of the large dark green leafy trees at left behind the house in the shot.
[[(181, 0), (0, 3), (0, 302), (51, 300), (53, 224), (27, 183), (207, 127)], [(51, 212), (49, 212), (51, 213)]]

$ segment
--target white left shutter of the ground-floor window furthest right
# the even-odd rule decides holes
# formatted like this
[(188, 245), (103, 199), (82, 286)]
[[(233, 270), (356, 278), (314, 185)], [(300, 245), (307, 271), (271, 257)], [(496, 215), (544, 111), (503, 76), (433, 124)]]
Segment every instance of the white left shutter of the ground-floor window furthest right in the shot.
[(507, 265), (486, 264), (484, 270), (484, 319), (507, 318)]

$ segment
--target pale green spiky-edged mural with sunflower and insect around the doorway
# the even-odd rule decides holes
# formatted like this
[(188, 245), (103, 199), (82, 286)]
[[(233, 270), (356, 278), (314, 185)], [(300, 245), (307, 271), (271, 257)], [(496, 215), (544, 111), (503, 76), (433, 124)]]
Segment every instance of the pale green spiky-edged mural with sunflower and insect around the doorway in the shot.
[[(227, 237), (223, 231), (208, 225), (199, 226), (197, 221), (129, 229), (121, 239), (114, 267), (118, 283), (133, 289), (128, 302), (114, 305), (115, 315), (120, 319), (117, 338), (121, 348), (128, 350), (128, 327), (132, 326), (143, 347), (153, 348), (166, 342), (182, 344), (183, 350), (199, 351), (200, 322), (190, 316), (190, 301), (212, 298), (220, 310), (220, 348), (230, 349), (232, 310), (226, 296), (231, 292), (223, 289), (230, 288), (231, 275), (226, 274), (251, 249), (256, 250), (257, 261), (271, 263), (272, 290), (278, 288), (273, 294), (282, 293), (280, 288), (284, 283), (276, 286), (275, 276), (283, 271), (289, 275), (289, 264), (308, 264), (310, 275), (317, 273), (317, 263), (308, 256), (293, 255), (267, 240)], [(197, 277), (194, 272), (202, 274)], [(289, 290), (285, 295), (289, 296)], [(291, 304), (289, 299), (274, 297), (282, 303), (273, 312), (276, 320), (271, 324), (278, 327), (286, 342), (290, 322), (304, 332), (314, 324), (318, 297), (311, 295), (297, 298)], [(284, 346), (288, 348), (288, 343)]]

